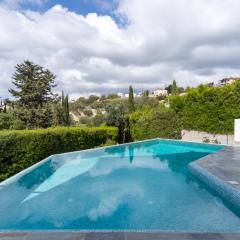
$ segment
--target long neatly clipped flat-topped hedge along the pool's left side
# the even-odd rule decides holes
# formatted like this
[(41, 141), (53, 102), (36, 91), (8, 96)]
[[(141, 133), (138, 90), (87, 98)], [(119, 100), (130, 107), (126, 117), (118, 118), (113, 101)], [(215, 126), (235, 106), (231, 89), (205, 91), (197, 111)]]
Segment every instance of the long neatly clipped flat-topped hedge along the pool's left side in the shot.
[(56, 153), (116, 143), (114, 127), (0, 131), (0, 181)]

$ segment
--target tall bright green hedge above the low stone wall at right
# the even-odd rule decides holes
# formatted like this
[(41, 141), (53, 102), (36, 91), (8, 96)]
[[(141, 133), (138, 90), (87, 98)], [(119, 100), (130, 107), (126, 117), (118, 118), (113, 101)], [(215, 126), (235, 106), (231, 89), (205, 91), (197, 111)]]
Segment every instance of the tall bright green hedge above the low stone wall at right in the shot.
[(231, 85), (190, 89), (185, 96), (170, 98), (170, 107), (186, 130), (232, 134), (240, 118), (240, 81)]

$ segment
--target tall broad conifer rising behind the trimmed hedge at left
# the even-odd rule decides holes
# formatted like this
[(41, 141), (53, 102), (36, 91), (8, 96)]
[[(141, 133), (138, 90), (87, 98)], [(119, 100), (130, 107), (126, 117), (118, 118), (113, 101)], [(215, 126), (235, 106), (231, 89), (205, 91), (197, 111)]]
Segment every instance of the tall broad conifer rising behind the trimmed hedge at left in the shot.
[(12, 83), (15, 88), (9, 92), (16, 101), (16, 116), (27, 128), (45, 128), (52, 125), (51, 103), (55, 100), (52, 93), (55, 76), (48, 69), (30, 61), (15, 67)]

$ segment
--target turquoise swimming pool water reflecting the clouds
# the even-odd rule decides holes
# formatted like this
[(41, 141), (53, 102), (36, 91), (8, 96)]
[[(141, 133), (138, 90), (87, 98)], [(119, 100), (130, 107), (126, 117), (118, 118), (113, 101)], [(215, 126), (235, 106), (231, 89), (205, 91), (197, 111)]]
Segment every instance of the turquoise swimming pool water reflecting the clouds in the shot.
[(240, 232), (187, 170), (221, 148), (152, 140), (52, 156), (0, 184), (0, 230)]

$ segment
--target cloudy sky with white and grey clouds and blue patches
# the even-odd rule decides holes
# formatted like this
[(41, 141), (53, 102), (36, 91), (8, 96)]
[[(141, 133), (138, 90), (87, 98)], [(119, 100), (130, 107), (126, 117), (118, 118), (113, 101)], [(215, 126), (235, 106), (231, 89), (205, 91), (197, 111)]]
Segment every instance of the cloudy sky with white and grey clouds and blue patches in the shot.
[(240, 75), (239, 0), (0, 0), (0, 97), (23, 60), (71, 97)]

